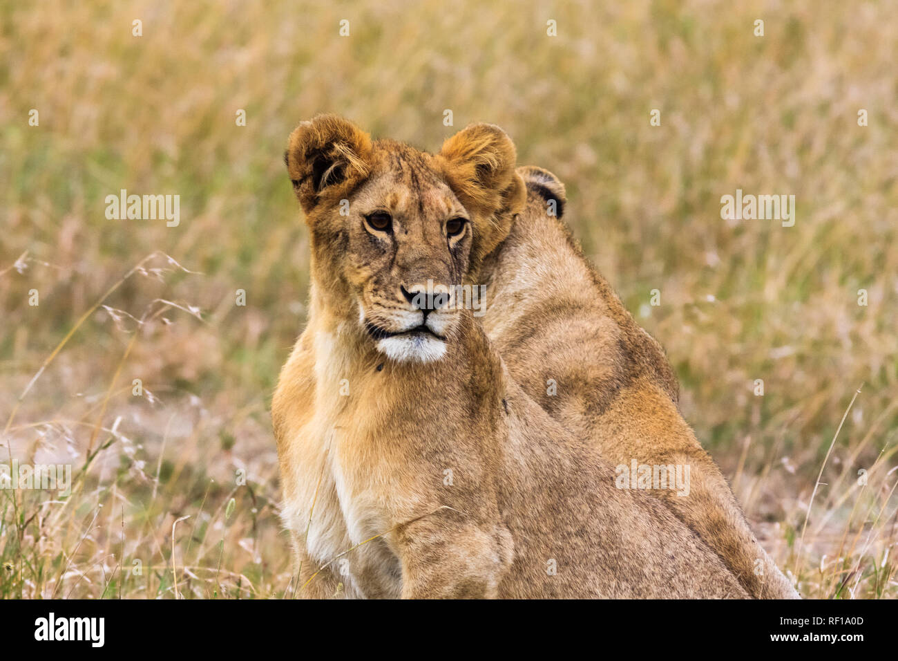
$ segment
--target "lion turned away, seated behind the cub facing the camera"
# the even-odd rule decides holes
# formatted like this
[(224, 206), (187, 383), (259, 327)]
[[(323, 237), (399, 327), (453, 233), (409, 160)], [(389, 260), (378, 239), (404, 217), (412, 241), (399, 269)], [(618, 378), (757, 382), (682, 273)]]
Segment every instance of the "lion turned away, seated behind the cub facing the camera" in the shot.
[(690, 465), (688, 496), (647, 493), (715, 549), (749, 594), (797, 598), (682, 419), (677, 381), (661, 346), (586, 262), (559, 219), (564, 186), (541, 168), (522, 167), (518, 174), (527, 185), (526, 206), (480, 272), (489, 283), (483, 326), (512, 377), (612, 464)]

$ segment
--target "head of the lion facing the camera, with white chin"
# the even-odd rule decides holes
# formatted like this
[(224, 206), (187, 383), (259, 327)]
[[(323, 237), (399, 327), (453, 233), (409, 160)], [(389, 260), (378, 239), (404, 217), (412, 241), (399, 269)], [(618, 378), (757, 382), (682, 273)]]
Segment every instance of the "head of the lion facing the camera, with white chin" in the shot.
[(332, 311), (393, 360), (441, 358), (458, 288), (475, 284), (524, 204), (511, 139), (475, 124), (432, 155), (320, 115), (293, 131), (285, 159)]

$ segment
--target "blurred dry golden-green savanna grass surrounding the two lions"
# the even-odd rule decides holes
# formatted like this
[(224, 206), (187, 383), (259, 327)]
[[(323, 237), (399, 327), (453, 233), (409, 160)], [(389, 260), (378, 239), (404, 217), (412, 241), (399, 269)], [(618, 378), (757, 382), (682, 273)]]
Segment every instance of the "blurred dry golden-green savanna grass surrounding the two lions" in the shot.
[[(898, 596), (896, 59), (885, 2), (0, 1), (0, 461), (73, 467), (67, 498), (0, 490), (0, 595), (295, 594), (282, 155), (338, 112), (432, 151), (506, 129), (801, 593)], [(180, 224), (107, 219), (121, 189)], [(721, 219), (736, 189), (794, 194), (795, 226)]]

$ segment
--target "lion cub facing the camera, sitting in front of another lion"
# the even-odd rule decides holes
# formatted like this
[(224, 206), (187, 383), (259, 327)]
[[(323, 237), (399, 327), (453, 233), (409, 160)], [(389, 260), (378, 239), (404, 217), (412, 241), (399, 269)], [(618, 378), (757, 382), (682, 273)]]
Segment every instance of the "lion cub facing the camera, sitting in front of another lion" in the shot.
[(312, 243), (272, 405), (300, 594), (746, 596), (664, 505), (615, 487), (459, 305), (496, 211), (524, 198), (501, 130), (430, 155), (320, 116), (286, 165)]

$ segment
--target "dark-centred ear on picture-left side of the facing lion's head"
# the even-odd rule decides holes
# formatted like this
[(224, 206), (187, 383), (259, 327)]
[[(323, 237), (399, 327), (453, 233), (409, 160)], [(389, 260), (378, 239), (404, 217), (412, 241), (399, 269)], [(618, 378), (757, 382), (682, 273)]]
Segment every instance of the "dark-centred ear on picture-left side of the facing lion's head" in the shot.
[(371, 136), (337, 115), (318, 115), (297, 126), (284, 160), (303, 210), (348, 194), (369, 174), (371, 150)]

